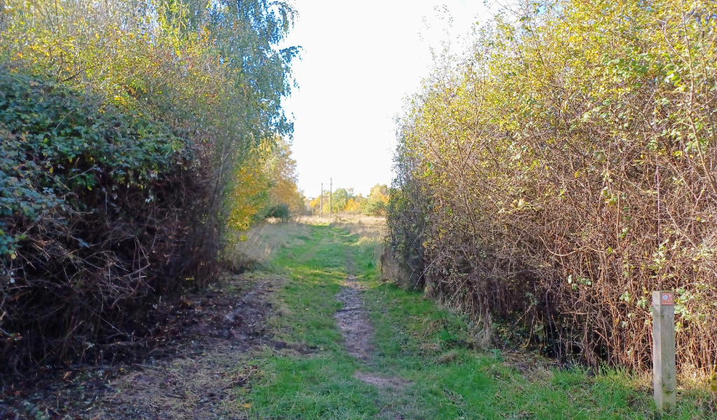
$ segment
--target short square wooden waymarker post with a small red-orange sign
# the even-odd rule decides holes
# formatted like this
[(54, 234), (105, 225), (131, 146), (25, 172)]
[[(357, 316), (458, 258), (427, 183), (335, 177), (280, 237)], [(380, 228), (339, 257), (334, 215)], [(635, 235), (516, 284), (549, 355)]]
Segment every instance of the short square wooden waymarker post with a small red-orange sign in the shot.
[(677, 404), (674, 292), (652, 292), (652, 371), (657, 410), (674, 409)]

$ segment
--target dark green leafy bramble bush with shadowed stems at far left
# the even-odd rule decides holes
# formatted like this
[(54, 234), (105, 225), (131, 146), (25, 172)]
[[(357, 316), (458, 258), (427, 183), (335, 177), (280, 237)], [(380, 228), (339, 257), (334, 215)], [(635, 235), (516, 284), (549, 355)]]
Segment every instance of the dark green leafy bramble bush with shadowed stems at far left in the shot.
[(92, 354), (98, 332), (177, 287), (183, 221), (203, 198), (191, 194), (191, 145), (100, 97), (7, 70), (0, 137), (0, 359)]

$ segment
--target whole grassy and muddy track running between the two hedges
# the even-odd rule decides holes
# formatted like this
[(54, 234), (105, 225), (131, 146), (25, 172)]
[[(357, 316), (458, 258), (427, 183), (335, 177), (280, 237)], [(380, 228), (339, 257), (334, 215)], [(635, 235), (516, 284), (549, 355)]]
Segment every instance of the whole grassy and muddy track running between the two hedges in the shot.
[[(381, 280), (381, 226), (286, 232), (262, 269), (167, 304), (174, 333), (147, 361), (69, 370), (0, 418), (656, 418), (649, 378), (478, 348), (469, 319)], [(713, 393), (680, 391), (662, 418), (716, 413)]]

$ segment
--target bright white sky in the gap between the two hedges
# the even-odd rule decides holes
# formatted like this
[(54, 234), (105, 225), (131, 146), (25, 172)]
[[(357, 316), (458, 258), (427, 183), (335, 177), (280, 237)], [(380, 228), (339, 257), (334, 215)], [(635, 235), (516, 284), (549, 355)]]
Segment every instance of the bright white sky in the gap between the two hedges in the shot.
[[(391, 183), (394, 117), (432, 65), (430, 47), (485, 22), (482, 0), (294, 0), (299, 13), (286, 44), (299, 89), (285, 102), (295, 117), (292, 150), (306, 196), (353, 187), (368, 194)], [(448, 15), (443, 10), (445, 6)], [(447, 17), (452, 17), (452, 28)], [(446, 30), (450, 32), (447, 34)], [(457, 48), (460, 50), (460, 48)], [(454, 48), (455, 50), (455, 48)]]

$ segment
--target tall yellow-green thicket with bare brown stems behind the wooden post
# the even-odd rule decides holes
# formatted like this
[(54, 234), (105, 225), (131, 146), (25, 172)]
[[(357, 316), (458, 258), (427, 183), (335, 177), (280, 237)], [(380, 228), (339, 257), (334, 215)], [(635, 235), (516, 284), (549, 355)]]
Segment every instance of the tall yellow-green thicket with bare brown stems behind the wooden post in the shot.
[(678, 366), (712, 371), (715, 11), (530, 3), (445, 54), (402, 119), (389, 204), (412, 283), (560, 358), (638, 370), (650, 292), (676, 290)]

